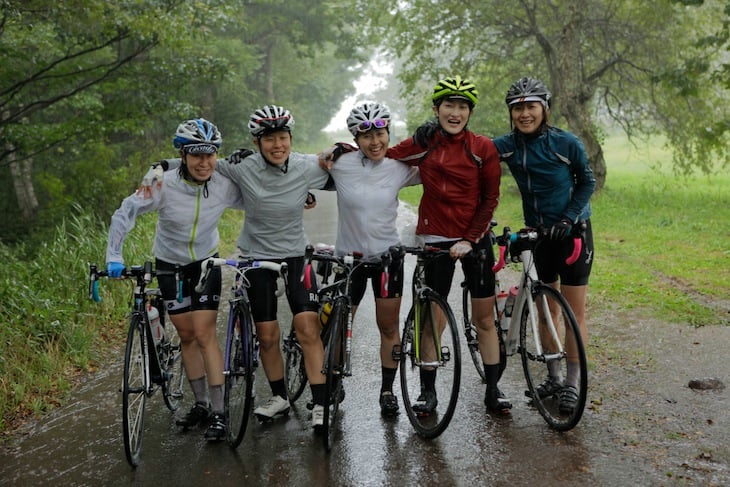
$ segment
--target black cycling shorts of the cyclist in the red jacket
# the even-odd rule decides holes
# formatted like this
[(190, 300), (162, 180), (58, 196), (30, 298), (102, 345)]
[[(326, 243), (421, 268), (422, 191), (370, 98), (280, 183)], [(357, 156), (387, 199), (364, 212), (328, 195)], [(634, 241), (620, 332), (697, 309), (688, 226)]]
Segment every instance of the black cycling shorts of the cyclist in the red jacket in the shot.
[[(429, 245), (440, 249), (449, 249), (458, 240), (449, 242), (434, 242)], [(494, 253), (489, 238), (483, 238), (479, 243), (473, 245), (473, 253), (481, 249), (487, 249), (486, 259), (482, 262), (472, 254), (461, 259), (461, 269), (464, 272), (464, 279), (471, 293), (472, 298), (489, 298), (494, 296)], [(439, 293), (441, 296), (448, 296), (451, 283), (454, 279), (456, 261), (449, 255), (439, 255), (426, 264), (426, 284), (428, 287)]]

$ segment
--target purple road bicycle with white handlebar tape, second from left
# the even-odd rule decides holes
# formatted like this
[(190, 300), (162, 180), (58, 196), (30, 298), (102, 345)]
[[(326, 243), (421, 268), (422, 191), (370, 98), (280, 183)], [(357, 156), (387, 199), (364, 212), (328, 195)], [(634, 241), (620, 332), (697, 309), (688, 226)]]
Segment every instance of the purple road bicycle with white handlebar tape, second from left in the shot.
[[(284, 280), (281, 294), (286, 289), (286, 262), (277, 263), (266, 260), (231, 260), (210, 257), (201, 263), (200, 281), (196, 291), (200, 292), (213, 267), (229, 266), (236, 271), (229, 300), (228, 324), (224, 349), (225, 392), (224, 416), (226, 421), (226, 442), (231, 448), (241, 444), (255, 396), (254, 377), (259, 364), (259, 342), (256, 326), (251, 315), (248, 288), (251, 283), (246, 273), (252, 270), (268, 270)], [(277, 294), (277, 295), (278, 295)]]

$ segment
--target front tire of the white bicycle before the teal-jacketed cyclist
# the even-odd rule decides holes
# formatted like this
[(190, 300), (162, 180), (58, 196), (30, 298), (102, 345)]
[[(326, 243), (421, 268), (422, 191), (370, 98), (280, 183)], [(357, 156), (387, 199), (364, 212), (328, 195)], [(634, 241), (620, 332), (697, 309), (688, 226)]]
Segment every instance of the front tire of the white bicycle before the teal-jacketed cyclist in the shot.
[[(575, 319), (575, 315), (560, 292), (556, 289), (535, 282), (532, 288), (532, 301), (537, 310), (537, 318), (543, 316), (545, 306), (549, 306), (554, 311), (554, 321), (556, 323), (556, 331), (561, 344), (561, 348), (565, 353), (558, 353), (558, 347), (554, 339), (548, 336), (541, 337), (542, 353), (538, 350), (537, 339), (539, 338), (539, 330), (533, 328), (533, 322), (530, 317), (530, 307), (525, 304), (522, 316), (520, 318), (520, 355), (522, 356), (522, 368), (525, 372), (525, 380), (527, 381), (526, 395), (530, 397), (530, 404), (534, 406), (540, 415), (545, 419), (547, 424), (557, 431), (567, 431), (574, 428), (583, 415), (585, 409), (587, 391), (588, 391), (588, 365), (585, 355), (583, 341), (580, 335), (580, 328)], [(569, 333), (566, 333), (566, 330)], [(543, 333), (544, 334), (544, 333)], [(569, 337), (575, 337), (574, 356), (578, 362), (578, 385), (576, 387), (578, 401), (572, 411), (561, 411), (559, 401), (559, 391), (555, 391), (545, 397), (540, 397), (537, 393), (537, 386), (548, 376), (546, 353), (551, 354), (550, 361), (555, 365), (554, 370), (559, 368), (560, 376), (564, 379), (567, 377), (567, 363), (569, 350)], [(552, 345), (551, 345), (552, 344)]]

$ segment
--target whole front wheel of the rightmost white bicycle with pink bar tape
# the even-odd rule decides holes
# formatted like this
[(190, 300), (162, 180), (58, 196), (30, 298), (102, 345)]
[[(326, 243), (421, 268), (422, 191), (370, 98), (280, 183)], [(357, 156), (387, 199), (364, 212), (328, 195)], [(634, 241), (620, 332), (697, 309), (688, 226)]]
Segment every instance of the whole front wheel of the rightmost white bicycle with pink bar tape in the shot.
[[(536, 282), (532, 303), (536, 316), (531, 316), (531, 307), (526, 303), (520, 318), (520, 354), (528, 387), (525, 394), (551, 428), (567, 431), (580, 421), (588, 391), (588, 365), (580, 329), (568, 302), (554, 288)], [(575, 370), (577, 401), (570, 407), (561, 407), (560, 395), (565, 393), (569, 361)], [(548, 375), (562, 383), (562, 387), (538, 388)]]

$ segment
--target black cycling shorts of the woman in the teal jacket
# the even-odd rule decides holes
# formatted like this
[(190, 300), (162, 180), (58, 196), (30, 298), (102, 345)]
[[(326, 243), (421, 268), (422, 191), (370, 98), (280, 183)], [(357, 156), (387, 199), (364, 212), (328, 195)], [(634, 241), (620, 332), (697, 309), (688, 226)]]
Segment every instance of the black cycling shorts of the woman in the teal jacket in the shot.
[(586, 286), (593, 267), (593, 229), (590, 219), (586, 220), (583, 235), (583, 248), (578, 260), (572, 265), (565, 263), (565, 259), (573, 253), (573, 239), (541, 240), (535, 247), (535, 267), (541, 281), (553, 283), (560, 279), (566, 286)]

